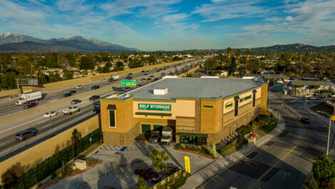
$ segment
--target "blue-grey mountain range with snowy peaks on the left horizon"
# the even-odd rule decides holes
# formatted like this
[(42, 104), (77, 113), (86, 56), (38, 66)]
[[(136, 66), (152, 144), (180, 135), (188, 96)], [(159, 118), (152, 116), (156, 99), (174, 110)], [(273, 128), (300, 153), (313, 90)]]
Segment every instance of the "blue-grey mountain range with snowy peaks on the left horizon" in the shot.
[(121, 51), (141, 51), (137, 48), (128, 48), (118, 44), (110, 44), (98, 39), (85, 39), (81, 36), (58, 39), (37, 39), (15, 33), (0, 34), (0, 51), (15, 52), (121, 52)]

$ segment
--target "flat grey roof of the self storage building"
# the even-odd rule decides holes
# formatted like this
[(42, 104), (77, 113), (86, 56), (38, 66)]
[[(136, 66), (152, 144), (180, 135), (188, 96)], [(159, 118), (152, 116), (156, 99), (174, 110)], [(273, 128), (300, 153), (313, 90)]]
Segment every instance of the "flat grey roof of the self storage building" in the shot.
[[(175, 100), (175, 98), (226, 98), (262, 86), (243, 78), (164, 78), (147, 86), (130, 91), (134, 99)], [(153, 89), (168, 88), (168, 93), (158, 95)]]

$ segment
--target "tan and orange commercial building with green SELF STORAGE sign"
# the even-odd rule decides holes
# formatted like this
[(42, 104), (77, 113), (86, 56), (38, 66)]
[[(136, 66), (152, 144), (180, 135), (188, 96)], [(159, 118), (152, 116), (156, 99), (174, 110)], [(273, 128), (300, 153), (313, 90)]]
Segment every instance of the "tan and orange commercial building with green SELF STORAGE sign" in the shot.
[(100, 100), (103, 141), (128, 145), (170, 126), (177, 143), (219, 143), (267, 112), (267, 84), (242, 78), (163, 78)]

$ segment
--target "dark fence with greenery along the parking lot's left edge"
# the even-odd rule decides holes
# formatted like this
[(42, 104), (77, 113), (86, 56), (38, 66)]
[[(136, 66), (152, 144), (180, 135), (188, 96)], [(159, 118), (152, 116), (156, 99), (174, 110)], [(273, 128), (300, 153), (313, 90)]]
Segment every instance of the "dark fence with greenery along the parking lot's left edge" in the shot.
[[(74, 145), (74, 157), (78, 154), (82, 153), (84, 150), (90, 147), (90, 138), (92, 139), (91, 143), (97, 143), (101, 140), (101, 131), (100, 128), (95, 131), (89, 133), (84, 138), (81, 138), (80, 143), (76, 143)], [(43, 160), (43, 162), (38, 163), (38, 165), (34, 165), (33, 168), (26, 171), (23, 177), (18, 180), (16, 184), (16, 189), (26, 189), (31, 188), (31, 186), (35, 185), (39, 181), (51, 175), (51, 173), (61, 168), (64, 163), (68, 163), (68, 161), (73, 159), (73, 151), (72, 145), (68, 148), (61, 150), (58, 154), (53, 155), (51, 158), (47, 158)], [(23, 170), (24, 171), (24, 170)]]

